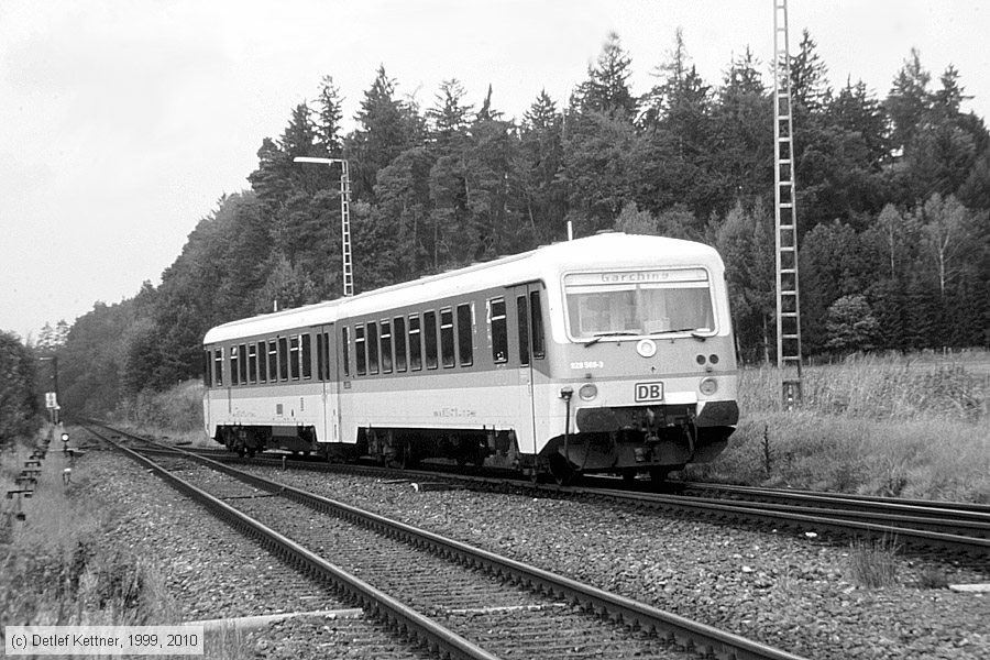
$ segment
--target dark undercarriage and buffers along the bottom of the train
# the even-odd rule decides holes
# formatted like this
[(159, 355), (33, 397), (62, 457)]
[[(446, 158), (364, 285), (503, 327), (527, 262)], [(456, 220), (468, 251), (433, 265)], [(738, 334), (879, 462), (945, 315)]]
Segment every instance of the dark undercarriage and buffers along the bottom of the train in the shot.
[(585, 408), (578, 410), (580, 430), (564, 429), (539, 454), (519, 450), (512, 430), (360, 428), (355, 443), (317, 442), (312, 427), (227, 426), (215, 439), (239, 455), (265, 450), (319, 454), (332, 462), (370, 459), (413, 468), (442, 459), (459, 466), (513, 470), (569, 483), (582, 473), (618, 474), (627, 480), (647, 474), (662, 481), (689, 463), (714, 460), (728, 443), (738, 419), (734, 402), (694, 406)]

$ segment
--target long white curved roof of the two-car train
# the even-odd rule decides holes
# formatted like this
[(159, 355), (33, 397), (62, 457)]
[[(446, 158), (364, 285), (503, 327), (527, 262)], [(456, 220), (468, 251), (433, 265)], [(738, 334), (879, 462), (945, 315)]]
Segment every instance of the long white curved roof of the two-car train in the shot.
[(543, 279), (562, 271), (641, 268), (645, 263), (650, 262), (654, 262), (657, 266), (704, 265), (717, 271), (718, 277), (722, 276), (723, 266), (718, 253), (703, 243), (620, 232), (600, 233), (428, 275), (350, 298), (230, 321), (209, 330), (204, 343), (332, 323), (345, 316), (454, 296), (475, 288), (476, 285), (481, 285), (477, 288), (510, 286)]

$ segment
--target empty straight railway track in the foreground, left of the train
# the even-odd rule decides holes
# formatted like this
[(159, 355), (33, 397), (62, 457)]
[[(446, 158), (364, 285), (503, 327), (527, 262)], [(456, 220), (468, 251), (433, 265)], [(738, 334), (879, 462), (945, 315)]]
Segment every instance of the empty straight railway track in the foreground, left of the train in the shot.
[(796, 658), (209, 459), (121, 449), (440, 657)]

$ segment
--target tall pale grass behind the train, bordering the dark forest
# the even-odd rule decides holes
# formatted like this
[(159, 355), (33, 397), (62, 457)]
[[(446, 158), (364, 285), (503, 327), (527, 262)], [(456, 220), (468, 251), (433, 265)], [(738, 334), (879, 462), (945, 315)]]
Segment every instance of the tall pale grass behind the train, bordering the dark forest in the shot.
[[(990, 353), (854, 355), (809, 366), (804, 400), (781, 409), (777, 370), (745, 367), (729, 448), (692, 480), (990, 503)], [(144, 394), (117, 421), (213, 446), (197, 381)]]

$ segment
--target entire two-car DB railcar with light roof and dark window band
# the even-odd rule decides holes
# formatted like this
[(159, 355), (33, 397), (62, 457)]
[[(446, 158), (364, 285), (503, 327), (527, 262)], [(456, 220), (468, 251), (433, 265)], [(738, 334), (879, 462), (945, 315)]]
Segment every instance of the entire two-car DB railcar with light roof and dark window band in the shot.
[(604, 233), (204, 338), (206, 431), (318, 452), (662, 479), (738, 420), (721, 257)]

